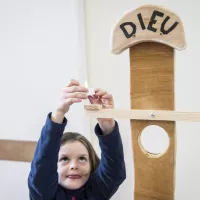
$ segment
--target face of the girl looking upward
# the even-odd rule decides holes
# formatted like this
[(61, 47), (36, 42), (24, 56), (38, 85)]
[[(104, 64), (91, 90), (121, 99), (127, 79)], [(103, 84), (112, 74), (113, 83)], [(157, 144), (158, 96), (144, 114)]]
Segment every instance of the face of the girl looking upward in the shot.
[(61, 146), (58, 156), (58, 182), (67, 189), (83, 186), (90, 175), (89, 153), (79, 141)]

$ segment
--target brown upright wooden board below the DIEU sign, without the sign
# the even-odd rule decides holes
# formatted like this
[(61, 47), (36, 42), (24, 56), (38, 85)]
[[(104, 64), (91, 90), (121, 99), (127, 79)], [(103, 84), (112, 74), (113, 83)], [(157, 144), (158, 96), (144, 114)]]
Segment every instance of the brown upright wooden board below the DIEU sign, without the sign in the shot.
[[(174, 49), (159, 43), (130, 48), (131, 109), (174, 110)], [(139, 137), (149, 125), (162, 127), (169, 136), (168, 150), (160, 156), (146, 152)], [(131, 120), (135, 200), (173, 200), (175, 122)]]

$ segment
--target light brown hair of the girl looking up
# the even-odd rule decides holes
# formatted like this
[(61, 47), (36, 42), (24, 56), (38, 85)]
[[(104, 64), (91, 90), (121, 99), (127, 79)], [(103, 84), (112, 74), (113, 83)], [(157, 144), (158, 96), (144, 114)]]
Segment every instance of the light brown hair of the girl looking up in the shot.
[(89, 142), (89, 140), (86, 137), (76, 132), (65, 132), (61, 139), (61, 146), (65, 145), (66, 143), (75, 142), (75, 141), (81, 142), (88, 150), (91, 173), (94, 173), (100, 163), (100, 159), (98, 155), (96, 154), (92, 144)]

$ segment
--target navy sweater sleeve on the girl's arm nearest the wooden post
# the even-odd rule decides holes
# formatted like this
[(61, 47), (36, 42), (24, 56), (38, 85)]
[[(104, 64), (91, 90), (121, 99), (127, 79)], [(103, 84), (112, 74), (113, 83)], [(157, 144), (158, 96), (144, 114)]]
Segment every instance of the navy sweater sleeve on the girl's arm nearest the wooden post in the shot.
[(105, 199), (110, 199), (126, 179), (126, 167), (122, 139), (118, 123), (108, 135), (102, 135), (97, 124), (95, 133), (99, 139), (101, 162), (95, 172), (97, 189)]

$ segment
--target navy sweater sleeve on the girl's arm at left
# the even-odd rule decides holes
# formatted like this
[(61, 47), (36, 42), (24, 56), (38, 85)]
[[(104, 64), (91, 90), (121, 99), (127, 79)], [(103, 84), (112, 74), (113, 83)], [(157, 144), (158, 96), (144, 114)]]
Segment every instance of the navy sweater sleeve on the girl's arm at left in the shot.
[(56, 194), (58, 153), (66, 124), (66, 118), (62, 124), (57, 124), (51, 120), (51, 113), (47, 116), (28, 176), (31, 200), (51, 200)]

